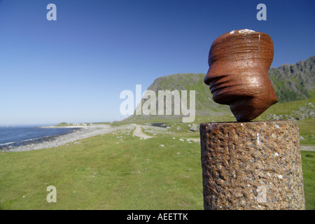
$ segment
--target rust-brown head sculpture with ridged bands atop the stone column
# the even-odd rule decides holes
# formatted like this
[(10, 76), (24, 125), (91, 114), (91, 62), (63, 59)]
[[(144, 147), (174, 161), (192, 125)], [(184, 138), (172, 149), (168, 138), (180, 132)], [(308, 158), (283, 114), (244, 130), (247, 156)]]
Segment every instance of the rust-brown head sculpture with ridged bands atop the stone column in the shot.
[(209, 85), (214, 102), (230, 106), (239, 122), (253, 120), (276, 104), (278, 98), (268, 76), (274, 57), (272, 38), (250, 29), (219, 36), (209, 52)]

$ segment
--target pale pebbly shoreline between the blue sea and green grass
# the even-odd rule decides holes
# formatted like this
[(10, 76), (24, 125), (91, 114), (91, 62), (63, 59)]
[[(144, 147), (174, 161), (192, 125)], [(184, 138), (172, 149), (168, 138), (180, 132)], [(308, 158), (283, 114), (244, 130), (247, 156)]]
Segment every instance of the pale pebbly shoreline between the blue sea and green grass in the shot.
[(73, 132), (67, 134), (61, 134), (58, 136), (48, 137), (48, 140), (44, 140), (34, 144), (27, 144), (24, 146), (15, 146), (10, 148), (3, 148), (1, 152), (22, 152), (22, 151), (33, 151), (44, 148), (55, 148), (59, 146), (64, 146), (65, 144), (71, 143), (73, 141), (78, 141), (81, 139), (86, 139), (89, 137), (97, 136), (100, 134), (107, 134), (116, 130), (121, 129), (134, 129), (134, 125), (123, 125), (120, 127), (112, 127), (111, 125), (89, 125), (85, 127), (78, 126), (62, 126), (62, 127), (54, 127), (54, 126), (46, 126), (40, 128), (78, 128)]

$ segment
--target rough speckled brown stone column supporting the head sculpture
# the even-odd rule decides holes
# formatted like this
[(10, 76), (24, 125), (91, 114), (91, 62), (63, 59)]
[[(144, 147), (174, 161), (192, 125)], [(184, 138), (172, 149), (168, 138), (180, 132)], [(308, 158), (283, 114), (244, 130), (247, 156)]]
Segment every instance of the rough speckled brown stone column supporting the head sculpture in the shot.
[(305, 209), (295, 121), (202, 123), (204, 209)]

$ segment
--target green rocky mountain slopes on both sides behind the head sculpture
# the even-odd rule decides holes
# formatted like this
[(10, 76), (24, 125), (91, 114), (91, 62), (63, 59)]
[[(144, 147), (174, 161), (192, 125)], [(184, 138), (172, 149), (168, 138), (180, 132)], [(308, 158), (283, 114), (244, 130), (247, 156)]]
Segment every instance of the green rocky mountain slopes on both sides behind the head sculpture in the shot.
[[(156, 94), (155, 105), (151, 104), (151, 106), (153, 106), (153, 110), (156, 109), (157, 115), (144, 115), (143, 113), (141, 115), (135, 115), (134, 113), (134, 115), (125, 120), (159, 120), (162, 122), (162, 120), (170, 118), (183, 117), (183, 115), (174, 115), (175, 107), (178, 105), (174, 104), (174, 96), (172, 97), (172, 115), (158, 115), (159, 90), (179, 90), (181, 97), (183, 97), (182, 90), (187, 90), (188, 106), (190, 104), (190, 90), (195, 90), (195, 116), (218, 117), (232, 115), (229, 106), (214, 102), (209, 86), (204, 84), (205, 76), (206, 74), (204, 73), (178, 73), (155, 79), (148, 87), (148, 90)], [(279, 103), (315, 97), (315, 56), (309, 57), (309, 59), (305, 61), (297, 62), (296, 64), (283, 64), (277, 69), (272, 67), (269, 69), (269, 78), (272, 81)], [(151, 102), (151, 97), (141, 99), (141, 104), (139, 104), (138, 107), (148, 105)], [(146, 102), (147, 104), (145, 104)], [(165, 98), (164, 106), (166, 103)], [(151, 109), (151, 107), (149, 108)], [(164, 114), (166, 114), (166, 110)]]

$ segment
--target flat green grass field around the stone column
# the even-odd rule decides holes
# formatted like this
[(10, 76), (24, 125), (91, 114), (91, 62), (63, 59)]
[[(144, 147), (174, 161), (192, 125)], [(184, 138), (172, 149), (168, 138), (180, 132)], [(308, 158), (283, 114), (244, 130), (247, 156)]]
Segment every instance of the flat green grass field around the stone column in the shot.
[[(0, 153), (0, 209), (203, 209), (200, 144), (184, 133), (141, 140), (120, 130)], [(315, 152), (302, 152), (302, 165), (307, 209), (315, 209)], [(48, 186), (57, 203), (47, 202)]]

